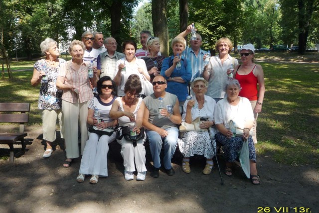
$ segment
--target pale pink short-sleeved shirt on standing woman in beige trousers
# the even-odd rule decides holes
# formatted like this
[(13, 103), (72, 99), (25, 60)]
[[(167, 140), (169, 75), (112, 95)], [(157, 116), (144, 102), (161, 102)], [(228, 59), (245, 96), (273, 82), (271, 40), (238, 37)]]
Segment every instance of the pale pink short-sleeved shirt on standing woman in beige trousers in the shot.
[(72, 60), (61, 64), (58, 76), (65, 78), (65, 85), (72, 85), (79, 90), (79, 94), (71, 90), (64, 90), (62, 100), (75, 103), (79, 99), (80, 103), (89, 101), (93, 97), (88, 78), (88, 64), (83, 62), (78, 70), (72, 66)]

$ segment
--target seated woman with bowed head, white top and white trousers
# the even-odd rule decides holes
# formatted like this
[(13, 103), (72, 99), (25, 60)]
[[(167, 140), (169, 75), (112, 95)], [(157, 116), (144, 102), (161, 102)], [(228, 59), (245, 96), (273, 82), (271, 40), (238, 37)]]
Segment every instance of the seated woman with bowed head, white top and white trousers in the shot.
[[(142, 103), (142, 98), (138, 98), (142, 91), (142, 85), (140, 77), (138, 75), (129, 76), (124, 86), (125, 96), (119, 97), (114, 102), (110, 116), (113, 119), (118, 119), (119, 126), (130, 126), (132, 121), (135, 121), (136, 125), (133, 131), (136, 131), (137, 135), (140, 134), (143, 114), (145, 105)], [(133, 180), (135, 172), (135, 166), (138, 171), (136, 176), (137, 181), (144, 181), (146, 177), (146, 151), (143, 145), (143, 139), (137, 140), (137, 145), (134, 146), (132, 141), (126, 140), (122, 137), (121, 140), (117, 139), (121, 144), (121, 155), (124, 159), (124, 178), (127, 181)]]

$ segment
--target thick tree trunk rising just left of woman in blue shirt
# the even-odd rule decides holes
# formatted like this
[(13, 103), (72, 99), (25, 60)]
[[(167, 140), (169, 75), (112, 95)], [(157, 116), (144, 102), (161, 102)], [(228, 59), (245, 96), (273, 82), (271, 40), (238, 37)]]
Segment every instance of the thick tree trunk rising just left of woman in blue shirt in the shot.
[(168, 27), (167, 27), (167, 0), (152, 0), (152, 22), (154, 35), (160, 38), (161, 54), (169, 55)]

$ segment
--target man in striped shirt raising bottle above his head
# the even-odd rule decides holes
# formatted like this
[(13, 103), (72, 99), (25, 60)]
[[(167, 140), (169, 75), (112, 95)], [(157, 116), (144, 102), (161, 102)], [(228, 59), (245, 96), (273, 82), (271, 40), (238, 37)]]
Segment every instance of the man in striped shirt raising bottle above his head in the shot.
[[(192, 25), (187, 26), (186, 30), (179, 33), (178, 36), (186, 37), (191, 33)], [(200, 77), (201, 73), (204, 70), (204, 60), (203, 57), (207, 54), (206, 51), (200, 49), (202, 44), (200, 34), (196, 33), (196, 40), (189, 40), (190, 47), (186, 46), (182, 55), (189, 59), (191, 62), (192, 78), (189, 83), (191, 83), (195, 78)]]

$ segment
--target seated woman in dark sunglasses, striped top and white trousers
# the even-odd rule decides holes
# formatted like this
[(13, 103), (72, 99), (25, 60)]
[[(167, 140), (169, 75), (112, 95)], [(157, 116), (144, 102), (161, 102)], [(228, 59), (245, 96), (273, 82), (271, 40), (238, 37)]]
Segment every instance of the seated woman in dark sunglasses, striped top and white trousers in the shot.
[[(110, 118), (110, 110), (115, 99), (115, 83), (109, 76), (102, 77), (97, 82), (98, 96), (93, 97), (88, 105), (87, 122), (94, 125), (99, 130), (115, 126), (117, 120)], [(98, 122), (94, 116), (94, 108), (100, 113), (103, 122)], [(82, 183), (85, 175), (91, 174), (91, 184), (96, 184), (99, 177), (108, 176), (107, 154), (109, 152), (109, 143), (115, 140), (115, 132), (111, 136), (100, 135), (94, 132), (88, 132), (89, 139), (86, 141), (84, 148), (79, 175), (76, 181)]]

